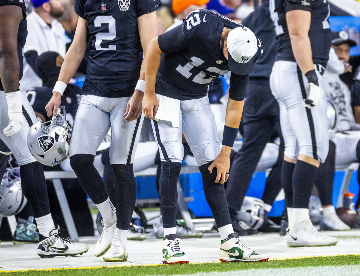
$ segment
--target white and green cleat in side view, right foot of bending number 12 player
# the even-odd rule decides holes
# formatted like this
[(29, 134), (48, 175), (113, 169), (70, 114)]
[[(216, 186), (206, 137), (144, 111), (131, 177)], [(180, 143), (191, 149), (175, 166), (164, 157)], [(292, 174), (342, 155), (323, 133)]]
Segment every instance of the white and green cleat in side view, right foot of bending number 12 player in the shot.
[(224, 262), (267, 262), (267, 254), (259, 254), (240, 243), (238, 233), (233, 233), (222, 240), (219, 250), (219, 260)]

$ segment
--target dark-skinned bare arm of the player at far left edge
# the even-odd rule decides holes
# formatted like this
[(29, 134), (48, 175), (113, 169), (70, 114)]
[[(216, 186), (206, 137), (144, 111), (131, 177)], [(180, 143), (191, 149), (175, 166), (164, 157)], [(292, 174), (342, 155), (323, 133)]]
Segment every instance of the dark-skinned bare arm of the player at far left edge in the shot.
[(21, 7), (0, 7), (0, 78), (5, 93), (19, 89), (18, 28), (22, 19)]

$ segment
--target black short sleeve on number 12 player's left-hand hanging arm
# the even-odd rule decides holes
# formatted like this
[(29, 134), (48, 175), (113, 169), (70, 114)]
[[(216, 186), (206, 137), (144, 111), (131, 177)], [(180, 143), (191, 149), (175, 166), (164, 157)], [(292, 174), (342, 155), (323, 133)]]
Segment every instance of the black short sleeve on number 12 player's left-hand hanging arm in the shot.
[(158, 36), (160, 50), (163, 53), (176, 52), (185, 47), (183, 24)]

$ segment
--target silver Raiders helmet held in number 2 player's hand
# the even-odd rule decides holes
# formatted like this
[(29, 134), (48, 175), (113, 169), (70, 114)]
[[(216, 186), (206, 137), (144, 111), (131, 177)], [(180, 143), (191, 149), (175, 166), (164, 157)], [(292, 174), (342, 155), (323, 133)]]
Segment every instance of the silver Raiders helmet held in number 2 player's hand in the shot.
[(37, 161), (53, 167), (69, 157), (69, 138), (69, 124), (62, 106), (50, 121), (42, 123), (37, 118), (27, 134), (27, 146)]

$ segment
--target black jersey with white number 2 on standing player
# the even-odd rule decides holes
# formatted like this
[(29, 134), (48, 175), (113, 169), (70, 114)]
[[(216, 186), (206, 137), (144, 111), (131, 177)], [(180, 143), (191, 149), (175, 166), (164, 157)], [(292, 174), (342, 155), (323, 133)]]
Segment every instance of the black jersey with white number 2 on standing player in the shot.
[(127, 97), (130, 92), (132, 95), (134, 87), (119, 89), (111, 84), (139, 79), (143, 49), (138, 17), (157, 10), (160, 5), (160, 0), (75, 0), (75, 12), (87, 20), (90, 36), (85, 81), (98, 84), (86, 84), (87, 94)]

